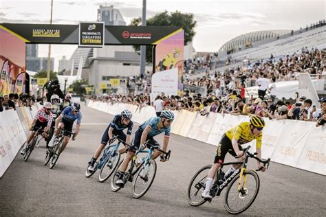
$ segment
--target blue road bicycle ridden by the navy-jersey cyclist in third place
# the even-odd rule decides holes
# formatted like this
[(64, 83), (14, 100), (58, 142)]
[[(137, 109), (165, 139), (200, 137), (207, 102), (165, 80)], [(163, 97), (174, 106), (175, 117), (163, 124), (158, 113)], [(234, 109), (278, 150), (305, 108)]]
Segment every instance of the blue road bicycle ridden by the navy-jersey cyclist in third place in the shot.
[[(116, 144), (113, 144), (113, 141), (118, 140)], [(107, 144), (104, 150), (102, 150), (102, 157), (94, 163), (94, 170), (89, 171), (88, 166), (85, 172), (85, 176), (89, 178), (92, 176), (96, 170), (100, 169), (98, 173), (98, 181), (101, 183), (109, 179), (111, 174), (116, 170), (118, 163), (120, 161), (120, 152), (118, 150), (120, 143), (124, 144), (124, 146), (129, 146), (124, 141), (118, 139), (118, 136), (113, 137), (111, 144)], [(91, 163), (91, 161), (89, 161)]]

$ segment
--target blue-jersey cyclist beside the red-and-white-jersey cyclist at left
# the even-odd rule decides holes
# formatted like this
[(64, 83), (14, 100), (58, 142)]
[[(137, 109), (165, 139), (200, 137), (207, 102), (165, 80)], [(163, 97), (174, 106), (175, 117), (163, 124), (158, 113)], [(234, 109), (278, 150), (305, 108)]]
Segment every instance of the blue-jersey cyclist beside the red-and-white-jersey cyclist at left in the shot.
[(61, 113), (61, 115), (59, 115), (59, 117), (56, 119), (56, 124), (54, 126), (55, 136), (52, 137), (49, 143), (49, 147), (50, 148), (53, 147), (54, 139), (59, 134), (59, 128), (61, 130), (67, 130), (63, 134), (65, 135), (65, 137), (63, 138), (63, 147), (61, 148), (61, 152), (63, 152), (63, 150), (65, 150), (65, 147), (69, 142), (70, 137), (72, 136), (71, 133), (69, 132), (72, 132), (72, 126), (74, 125), (74, 122), (77, 120), (76, 132), (72, 137), (72, 140), (76, 139), (79, 133), (81, 119), (82, 119), (82, 114), (80, 111), (80, 104), (78, 102), (74, 102), (72, 106), (68, 106), (67, 108), (65, 108)]

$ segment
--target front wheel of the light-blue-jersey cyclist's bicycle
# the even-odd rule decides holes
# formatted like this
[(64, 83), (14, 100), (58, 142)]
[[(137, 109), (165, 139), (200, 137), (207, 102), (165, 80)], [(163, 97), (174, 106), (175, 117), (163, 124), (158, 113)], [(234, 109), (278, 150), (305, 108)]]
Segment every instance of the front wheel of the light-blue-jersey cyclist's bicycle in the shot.
[(146, 165), (138, 170), (133, 179), (133, 197), (140, 198), (146, 194), (151, 187), (156, 174), (156, 162), (150, 159)]

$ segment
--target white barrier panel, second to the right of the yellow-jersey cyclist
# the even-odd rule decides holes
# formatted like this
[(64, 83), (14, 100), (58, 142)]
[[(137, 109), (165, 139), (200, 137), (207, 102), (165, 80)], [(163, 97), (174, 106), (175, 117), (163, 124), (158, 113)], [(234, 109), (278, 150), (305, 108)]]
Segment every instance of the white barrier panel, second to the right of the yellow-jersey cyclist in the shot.
[(277, 141), (272, 160), (285, 165), (296, 166), (313, 123), (287, 120)]

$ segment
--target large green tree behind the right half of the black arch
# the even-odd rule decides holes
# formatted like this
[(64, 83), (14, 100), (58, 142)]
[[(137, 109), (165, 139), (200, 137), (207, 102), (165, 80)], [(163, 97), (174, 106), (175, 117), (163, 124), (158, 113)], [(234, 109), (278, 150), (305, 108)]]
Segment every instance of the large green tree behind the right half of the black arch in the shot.
[[(131, 20), (130, 25), (140, 26), (142, 24), (142, 18), (134, 18)], [(197, 21), (194, 20), (194, 15), (191, 13), (182, 13), (180, 11), (168, 12), (164, 11), (160, 14), (155, 14), (151, 18), (146, 20), (146, 25), (154, 26), (177, 26), (182, 27), (184, 30), (184, 45), (193, 41), (195, 36), (195, 27)], [(135, 50), (140, 54), (140, 46), (133, 46)], [(152, 62), (152, 46), (146, 46), (146, 61)]]

